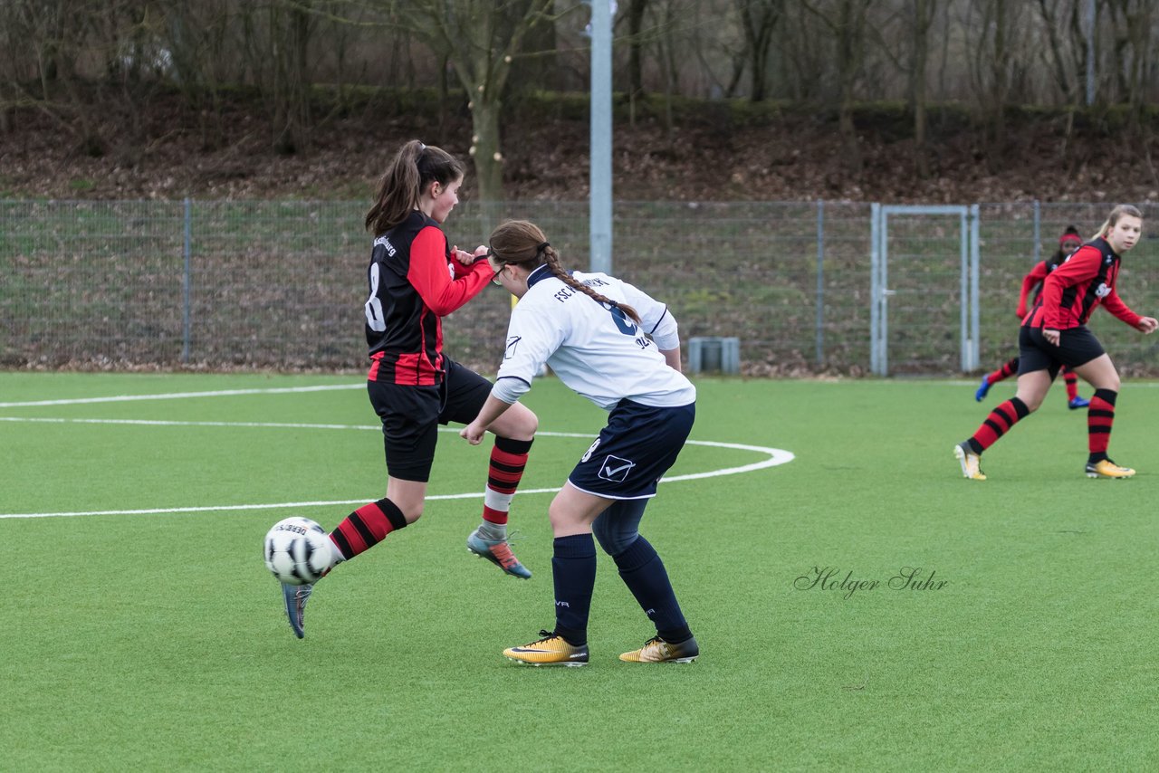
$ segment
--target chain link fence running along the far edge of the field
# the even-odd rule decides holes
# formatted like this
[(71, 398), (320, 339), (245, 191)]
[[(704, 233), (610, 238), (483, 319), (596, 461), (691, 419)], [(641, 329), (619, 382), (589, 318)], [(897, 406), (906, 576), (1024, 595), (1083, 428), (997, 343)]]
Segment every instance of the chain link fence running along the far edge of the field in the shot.
[[(1018, 353), (1022, 276), (1109, 204), (979, 205), (984, 370)], [(1144, 216), (1159, 214), (1157, 205)], [(0, 200), (0, 365), (5, 367), (362, 370), (371, 238), (359, 202)], [(870, 369), (870, 204), (617, 203), (613, 274), (665, 301), (681, 338), (736, 336), (750, 375), (860, 375)], [(588, 268), (586, 203), (462, 203), (446, 224), (472, 249), (504, 218), (539, 224)], [(1118, 290), (1159, 313), (1156, 239), (1123, 261)], [(904, 289), (892, 373), (961, 373), (957, 342), (930, 320), (961, 308), (956, 225), (914, 219), (891, 255)], [(891, 258), (892, 260), (892, 258)], [(901, 292), (901, 291), (899, 291)], [(902, 301), (904, 300), (904, 305)], [(510, 297), (488, 287), (444, 321), (446, 352), (483, 372), (502, 356)], [(891, 311), (891, 314), (895, 312)], [(1124, 373), (1159, 374), (1159, 335), (1103, 312), (1092, 329)], [(891, 333), (894, 336), (895, 333)], [(890, 343), (894, 347), (894, 343)]]

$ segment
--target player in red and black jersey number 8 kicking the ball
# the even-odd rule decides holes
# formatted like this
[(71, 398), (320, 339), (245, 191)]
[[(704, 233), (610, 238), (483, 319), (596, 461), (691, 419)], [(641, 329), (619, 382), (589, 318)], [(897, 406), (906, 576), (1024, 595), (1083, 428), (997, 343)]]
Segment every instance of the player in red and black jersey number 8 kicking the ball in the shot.
[[(366, 214), (374, 234), (366, 272), (366, 388), (382, 422), (386, 496), (365, 504), (330, 532), (331, 567), (355, 557), (393, 531), (418, 520), (435, 459), (438, 425), (466, 424), (483, 407), (490, 381), (443, 353), (442, 318), (478, 296), (495, 277), (484, 247), (449, 246), (440, 228), (459, 203), (462, 166), (445, 151), (411, 140), (402, 146)], [(538, 420), (523, 406), (489, 428), (495, 433), (483, 522), (467, 538), (471, 552), (503, 571), (531, 573), (506, 542), (508, 510), (527, 462)], [(302, 636), (313, 585), (282, 586), (294, 634)]]

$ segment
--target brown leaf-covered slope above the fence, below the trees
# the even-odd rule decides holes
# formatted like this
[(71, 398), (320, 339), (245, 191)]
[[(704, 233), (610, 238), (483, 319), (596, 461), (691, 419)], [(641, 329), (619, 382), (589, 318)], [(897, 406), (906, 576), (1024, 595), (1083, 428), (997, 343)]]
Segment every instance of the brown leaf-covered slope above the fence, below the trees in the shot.
[[(544, 105), (512, 112), (504, 126), (506, 197), (583, 200), (586, 116), (570, 110), (574, 117), (566, 117), (568, 111)], [(420, 137), (465, 155), (471, 132), (465, 112), (425, 114), (393, 114), (380, 103), (318, 118), (307, 147), (278, 154), (260, 105), (236, 99), (214, 116), (191, 112), (175, 95), (155, 97), (137, 115), (96, 103), (90, 115), (97, 139), (88, 147), (60, 122), (21, 111), (9, 115), (10, 130), (0, 133), (0, 196), (366, 199), (406, 139)], [(1113, 115), (1080, 119), (1067, 139), (1065, 116), (1013, 116), (999, 152), (957, 111), (934, 111), (932, 174), (919, 178), (907, 121), (898, 110), (859, 112), (863, 163), (858, 173), (847, 163), (832, 116), (683, 105), (671, 131), (658, 110), (634, 125), (618, 118), (615, 197), (883, 203), (1159, 198), (1159, 175), (1150, 161), (1159, 156), (1159, 147), (1151, 130), (1116, 130), (1117, 121)], [(469, 185), (468, 180), (468, 195)]]

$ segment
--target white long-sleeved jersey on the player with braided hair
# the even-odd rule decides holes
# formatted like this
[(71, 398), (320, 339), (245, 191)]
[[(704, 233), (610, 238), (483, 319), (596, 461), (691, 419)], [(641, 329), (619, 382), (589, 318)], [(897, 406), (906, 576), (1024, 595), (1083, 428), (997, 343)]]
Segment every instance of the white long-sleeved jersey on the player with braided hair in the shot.
[(527, 292), (511, 311), (493, 394), (504, 402), (518, 400), (547, 363), (563, 384), (605, 410), (625, 398), (653, 407), (695, 402), (697, 388), (659, 352), (680, 344), (668, 307), (606, 274), (571, 276), (635, 308), (642, 324), (540, 267), (527, 277)]

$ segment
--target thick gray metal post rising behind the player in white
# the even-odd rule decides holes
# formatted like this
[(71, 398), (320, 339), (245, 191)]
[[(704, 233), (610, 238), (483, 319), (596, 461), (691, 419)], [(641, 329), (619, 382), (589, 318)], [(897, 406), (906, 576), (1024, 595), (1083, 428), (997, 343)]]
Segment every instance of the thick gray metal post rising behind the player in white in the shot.
[(591, 270), (612, 271), (612, 9), (591, 3)]

